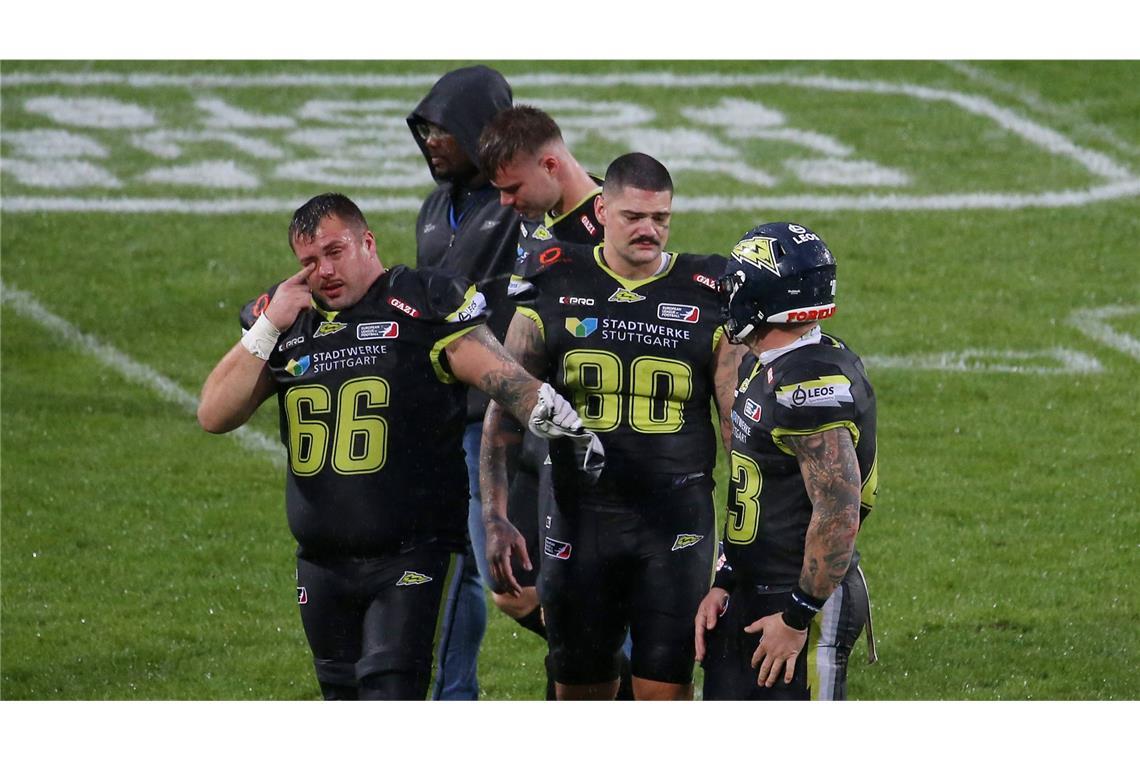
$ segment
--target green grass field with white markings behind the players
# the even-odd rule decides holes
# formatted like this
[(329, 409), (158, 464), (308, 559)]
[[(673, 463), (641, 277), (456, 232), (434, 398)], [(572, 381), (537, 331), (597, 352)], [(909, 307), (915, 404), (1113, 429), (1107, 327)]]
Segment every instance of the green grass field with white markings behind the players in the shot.
[[(193, 408), (301, 202), (413, 260), (402, 116), (451, 66), (5, 64), (5, 700), (317, 697), (276, 416)], [(1140, 65), (498, 67), (591, 170), (673, 169), (671, 250), (784, 219), (836, 253), (880, 426), (853, 698), (1140, 698)], [(539, 645), (492, 611), (484, 697), (539, 698)]]

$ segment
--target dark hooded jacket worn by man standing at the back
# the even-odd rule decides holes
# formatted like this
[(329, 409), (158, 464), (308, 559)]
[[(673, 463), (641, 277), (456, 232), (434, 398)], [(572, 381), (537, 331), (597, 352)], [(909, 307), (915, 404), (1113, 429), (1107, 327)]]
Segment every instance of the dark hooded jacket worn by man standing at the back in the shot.
[[(511, 104), (511, 85), (502, 74), (487, 66), (469, 66), (440, 77), (407, 119), (438, 185), (416, 219), (416, 268), (439, 269), (474, 283), (487, 299), (487, 325), (499, 341), (514, 311), (506, 300), (506, 280), (514, 269), (520, 216), (499, 204), (498, 190), (482, 175), (471, 186), (438, 178), (416, 125), (427, 121), (447, 130), (475, 163), (483, 126)], [(481, 419), (487, 397), (478, 391), (467, 397), (469, 422)]]

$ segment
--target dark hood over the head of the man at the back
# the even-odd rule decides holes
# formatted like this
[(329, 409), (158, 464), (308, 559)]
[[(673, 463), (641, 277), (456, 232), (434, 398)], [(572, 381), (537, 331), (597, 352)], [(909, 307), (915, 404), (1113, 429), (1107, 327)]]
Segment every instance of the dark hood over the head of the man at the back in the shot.
[(494, 68), (466, 66), (443, 74), (407, 120), (432, 179), (439, 181), (424, 139), (416, 132), (417, 123), (429, 121), (442, 126), (455, 136), (463, 152), (478, 165), (479, 134), (495, 114), (506, 111), (511, 105), (511, 85)]

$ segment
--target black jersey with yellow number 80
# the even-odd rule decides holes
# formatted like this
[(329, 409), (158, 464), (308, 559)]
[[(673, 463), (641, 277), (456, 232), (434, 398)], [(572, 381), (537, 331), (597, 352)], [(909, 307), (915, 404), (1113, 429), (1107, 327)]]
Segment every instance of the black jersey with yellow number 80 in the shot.
[[(710, 475), (717, 436), (709, 399), (723, 335), (716, 278), (724, 259), (669, 254), (644, 280), (616, 275), (602, 246), (556, 246), (512, 280), (519, 312), (543, 334), (549, 379), (605, 446), (605, 471), (586, 493), (620, 507), (624, 495)], [(564, 442), (552, 441), (560, 498), (576, 482)]]

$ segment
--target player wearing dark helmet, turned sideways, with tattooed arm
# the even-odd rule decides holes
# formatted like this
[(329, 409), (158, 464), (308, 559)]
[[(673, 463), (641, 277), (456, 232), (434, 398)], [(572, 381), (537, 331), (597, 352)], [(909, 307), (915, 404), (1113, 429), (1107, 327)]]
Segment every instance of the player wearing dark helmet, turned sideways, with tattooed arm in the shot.
[(732, 408), (727, 564), (694, 621), (703, 696), (806, 700), (808, 627), (849, 577), (874, 506), (874, 391), (860, 358), (821, 330), (836, 260), (812, 230), (750, 230), (720, 291), (725, 330), (750, 356)]

